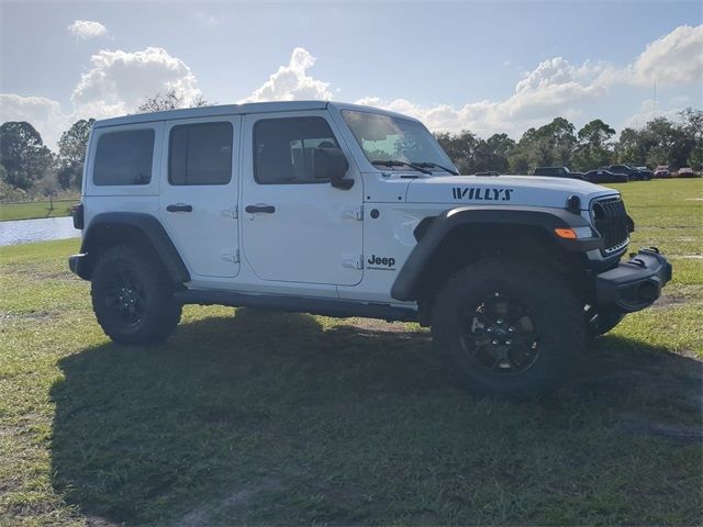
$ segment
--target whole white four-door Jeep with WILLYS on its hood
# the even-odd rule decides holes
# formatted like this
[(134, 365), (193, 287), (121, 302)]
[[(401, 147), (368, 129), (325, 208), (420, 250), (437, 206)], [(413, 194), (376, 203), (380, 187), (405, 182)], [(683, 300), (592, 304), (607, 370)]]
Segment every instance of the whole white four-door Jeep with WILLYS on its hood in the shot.
[(466, 388), (551, 390), (587, 336), (671, 277), (627, 262), (617, 191), (458, 176), (419, 121), (271, 102), (98, 121), (70, 269), (116, 343), (163, 341), (183, 304), (413, 321)]

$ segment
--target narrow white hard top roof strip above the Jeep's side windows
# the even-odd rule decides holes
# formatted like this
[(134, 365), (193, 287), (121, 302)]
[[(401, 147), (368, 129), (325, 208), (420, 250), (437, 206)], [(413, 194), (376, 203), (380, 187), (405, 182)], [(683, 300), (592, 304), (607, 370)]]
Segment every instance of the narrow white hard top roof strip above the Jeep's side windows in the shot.
[(380, 110), (372, 106), (360, 104), (349, 104), (344, 102), (331, 101), (278, 101), (278, 102), (247, 102), (244, 104), (221, 104), (215, 106), (186, 108), (182, 110), (169, 110), (165, 112), (137, 113), (134, 115), (124, 115), (120, 117), (103, 119), (96, 121), (94, 127), (102, 128), (105, 126), (119, 126), (137, 123), (149, 123), (154, 121), (171, 121), (176, 119), (193, 119), (193, 117), (216, 117), (225, 115), (243, 115), (247, 113), (274, 113), (274, 112), (298, 112), (305, 110), (325, 110), (333, 106), (338, 110), (356, 110), (360, 112), (373, 112), (390, 115), (394, 117), (409, 119), (416, 121), (408, 115), (402, 115), (387, 110)]

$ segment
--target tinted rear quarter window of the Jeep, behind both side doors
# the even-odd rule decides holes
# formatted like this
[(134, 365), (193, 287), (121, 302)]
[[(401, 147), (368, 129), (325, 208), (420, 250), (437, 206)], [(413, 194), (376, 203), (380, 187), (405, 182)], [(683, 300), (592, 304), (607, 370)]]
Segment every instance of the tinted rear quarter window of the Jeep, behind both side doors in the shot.
[(148, 184), (152, 181), (154, 130), (109, 132), (98, 139), (92, 181), (97, 186)]

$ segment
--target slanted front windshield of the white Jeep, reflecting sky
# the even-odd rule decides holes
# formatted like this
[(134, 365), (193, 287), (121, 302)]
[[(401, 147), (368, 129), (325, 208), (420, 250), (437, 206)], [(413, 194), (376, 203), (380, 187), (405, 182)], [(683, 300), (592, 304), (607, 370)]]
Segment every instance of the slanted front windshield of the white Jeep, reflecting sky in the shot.
[[(429, 131), (416, 121), (353, 110), (343, 110), (342, 115), (371, 164), (401, 161), (433, 171), (443, 171), (442, 167), (456, 169)], [(383, 167), (408, 170), (406, 165), (400, 164)]]

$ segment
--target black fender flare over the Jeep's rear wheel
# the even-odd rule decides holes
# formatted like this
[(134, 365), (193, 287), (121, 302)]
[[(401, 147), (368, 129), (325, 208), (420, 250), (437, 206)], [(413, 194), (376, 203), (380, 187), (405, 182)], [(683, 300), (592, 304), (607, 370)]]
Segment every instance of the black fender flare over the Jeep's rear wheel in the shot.
[(88, 256), (83, 258), (89, 266), (78, 269), (81, 278), (90, 278), (92, 265), (90, 265), (90, 248), (96, 243), (104, 245), (98, 237), (104, 236), (105, 231), (119, 227), (130, 227), (140, 231), (148, 240), (149, 245), (160, 258), (164, 268), (170, 276), (174, 283), (185, 283), (190, 281), (190, 273), (180, 254), (176, 249), (168, 233), (155, 216), (141, 212), (103, 212), (97, 214), (83, 235), (80, 251)]

